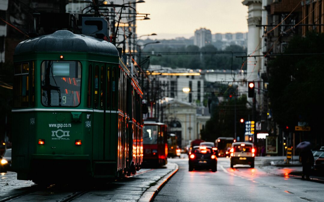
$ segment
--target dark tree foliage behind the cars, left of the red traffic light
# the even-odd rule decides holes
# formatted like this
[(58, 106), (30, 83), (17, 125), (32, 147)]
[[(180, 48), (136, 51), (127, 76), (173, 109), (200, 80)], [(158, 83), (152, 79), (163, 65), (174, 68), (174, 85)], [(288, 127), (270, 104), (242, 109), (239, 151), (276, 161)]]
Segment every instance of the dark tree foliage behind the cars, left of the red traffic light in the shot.
[(214, 142), (218, 137), (234, 137), (234, 117), (236, 107), (236, 132), (241, 139), (244, 137), (245, 126), (239, 120), (243, 118), (248, 120), (249, 114), (252, 115), (251, 109), (247, 108), (247, 97), (238, 97), (227, 99), (212, 107), (212, 116), (206, 122), (206, 126), (201, 135), (203, 140)]

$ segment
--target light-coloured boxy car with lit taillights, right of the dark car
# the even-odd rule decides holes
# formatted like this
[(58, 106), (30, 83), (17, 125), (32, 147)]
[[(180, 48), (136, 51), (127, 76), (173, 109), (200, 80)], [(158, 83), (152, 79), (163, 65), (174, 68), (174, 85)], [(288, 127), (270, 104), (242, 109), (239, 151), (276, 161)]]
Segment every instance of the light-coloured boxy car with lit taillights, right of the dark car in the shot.
[(254, 168), (255, 148), (253, 143), (232, 143), (230, 153), (231, 168), (237, 164), (250, 165), (251, 168)]

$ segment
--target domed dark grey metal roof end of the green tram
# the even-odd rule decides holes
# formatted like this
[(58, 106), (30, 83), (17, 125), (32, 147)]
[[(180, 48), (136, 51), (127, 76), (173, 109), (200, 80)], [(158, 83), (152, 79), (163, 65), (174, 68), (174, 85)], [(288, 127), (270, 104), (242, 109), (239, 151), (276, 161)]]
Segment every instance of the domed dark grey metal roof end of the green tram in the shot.
[(95, 37), (73, 34), (68, 30), (27, 39), (15, 48), (15, 54), (35, 51), (91, 52), (119, 56), (117, 48), (112, 43)]

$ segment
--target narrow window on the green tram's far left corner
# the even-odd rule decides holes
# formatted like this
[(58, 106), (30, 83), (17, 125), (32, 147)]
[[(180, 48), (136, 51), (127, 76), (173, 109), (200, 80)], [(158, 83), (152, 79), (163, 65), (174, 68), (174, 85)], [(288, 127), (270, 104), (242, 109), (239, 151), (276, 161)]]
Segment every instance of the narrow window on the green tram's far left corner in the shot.
[(14, 107), (28, 107), (29, 63), (15, 64), (14, 74)]

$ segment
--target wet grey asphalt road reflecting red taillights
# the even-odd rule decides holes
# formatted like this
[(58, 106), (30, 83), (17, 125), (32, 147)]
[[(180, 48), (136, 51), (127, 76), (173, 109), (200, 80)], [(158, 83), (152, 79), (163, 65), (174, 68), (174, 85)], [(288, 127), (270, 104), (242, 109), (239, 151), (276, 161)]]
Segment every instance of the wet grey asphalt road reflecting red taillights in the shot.
[[(272, 175), (255, 168), (235, 165), (218, 158), (217, 172), (188, 171), (188, 158), (168, 159), (179, 171), (154, 201), (324, 201), (324, 184), (289, 176)], [(289, 168), (287, 168), (289, 172)]]

